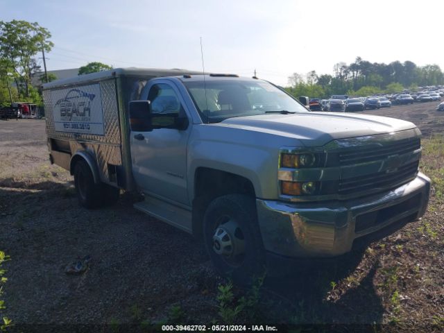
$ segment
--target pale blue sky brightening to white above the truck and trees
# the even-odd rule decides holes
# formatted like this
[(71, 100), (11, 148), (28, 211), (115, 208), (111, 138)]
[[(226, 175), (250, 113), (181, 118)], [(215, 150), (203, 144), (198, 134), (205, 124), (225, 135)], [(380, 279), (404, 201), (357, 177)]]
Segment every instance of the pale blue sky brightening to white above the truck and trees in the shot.
[[(234, 73), (287, 85), (337, 62), (411, 60), (444, 69), (443, 1), (0, 0), (0, 20), (51, 32), (47, 69), (113, 67)], [(40, 63), (42, 61), (40, 60)]]

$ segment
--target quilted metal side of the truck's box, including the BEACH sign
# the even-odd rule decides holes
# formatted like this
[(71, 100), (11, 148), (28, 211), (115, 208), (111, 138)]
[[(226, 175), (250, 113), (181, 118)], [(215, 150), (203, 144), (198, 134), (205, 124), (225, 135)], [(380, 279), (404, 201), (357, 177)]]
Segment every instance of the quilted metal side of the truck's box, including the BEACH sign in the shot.
[(71, 155), (87, 151), (96, 159), (101, 180), (117, 184), (122, 155), (116, 79), (46, 89), (43, 97), (49, 148), (53, 149), (51, 140), (60, 140), (69, 142)]

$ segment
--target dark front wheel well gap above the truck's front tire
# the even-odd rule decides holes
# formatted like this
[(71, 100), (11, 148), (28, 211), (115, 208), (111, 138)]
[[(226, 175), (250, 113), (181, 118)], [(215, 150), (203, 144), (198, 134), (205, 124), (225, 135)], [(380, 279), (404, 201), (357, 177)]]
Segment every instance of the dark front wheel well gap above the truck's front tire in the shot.
[(202, 238), (203, 216), (207, 206), (214, 198), (226, 194), (256, 197), (253, 183), (248, 178), (210, 168), (196, 170), (193, 200), (193, 234), (196, 238)]

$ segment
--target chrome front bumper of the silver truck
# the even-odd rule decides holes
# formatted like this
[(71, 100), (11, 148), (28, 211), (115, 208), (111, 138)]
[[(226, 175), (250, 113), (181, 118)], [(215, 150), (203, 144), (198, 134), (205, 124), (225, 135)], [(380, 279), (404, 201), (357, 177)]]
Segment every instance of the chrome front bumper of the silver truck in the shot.
[(355, 240), (425, 214), (430, 180), (422, 173), (396, 189), (346, 201), (286, 203), (257, 199), (264, 248), (286, 257), (333, 257)]

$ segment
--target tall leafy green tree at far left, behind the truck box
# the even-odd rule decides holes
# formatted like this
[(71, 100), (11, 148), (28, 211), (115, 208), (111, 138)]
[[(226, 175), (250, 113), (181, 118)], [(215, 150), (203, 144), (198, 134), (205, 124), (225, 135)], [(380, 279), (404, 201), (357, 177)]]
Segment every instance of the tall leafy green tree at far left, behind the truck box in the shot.
[(17, 87), (24, 86), (24, 95), (30, 96), (31, 76), (37, 69), (35, 55), (44, 50), (51, 51), (54, 46), (49, 41), (51, 33), (37, 22), (12, 20), (0, 21), (0, 57), (10, 61)]

